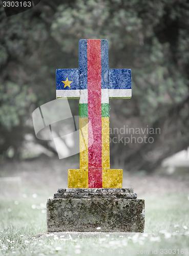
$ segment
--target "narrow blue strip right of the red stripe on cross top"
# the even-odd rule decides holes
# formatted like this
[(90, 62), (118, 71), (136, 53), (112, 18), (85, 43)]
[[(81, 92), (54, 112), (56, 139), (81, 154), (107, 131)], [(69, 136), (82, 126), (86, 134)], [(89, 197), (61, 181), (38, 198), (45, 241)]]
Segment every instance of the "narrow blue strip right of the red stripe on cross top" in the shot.
[(101, 88), (108, 89), (108, 40), (101, 40)]

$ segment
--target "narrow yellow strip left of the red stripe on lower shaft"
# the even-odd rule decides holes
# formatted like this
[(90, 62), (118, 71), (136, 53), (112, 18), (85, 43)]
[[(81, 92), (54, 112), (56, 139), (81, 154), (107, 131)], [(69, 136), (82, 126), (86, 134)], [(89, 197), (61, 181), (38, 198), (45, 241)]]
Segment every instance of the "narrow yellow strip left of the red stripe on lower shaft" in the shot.
[(88, 168), (88, 117), (79, 118), (80, 169)]

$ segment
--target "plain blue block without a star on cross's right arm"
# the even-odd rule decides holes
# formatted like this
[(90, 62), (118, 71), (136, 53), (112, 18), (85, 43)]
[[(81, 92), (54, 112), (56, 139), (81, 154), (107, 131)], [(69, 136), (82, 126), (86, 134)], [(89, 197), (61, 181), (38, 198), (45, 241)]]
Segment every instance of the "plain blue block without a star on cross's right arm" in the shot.
[(131, 89), (131, 69), (109, 69), (109, 89)]

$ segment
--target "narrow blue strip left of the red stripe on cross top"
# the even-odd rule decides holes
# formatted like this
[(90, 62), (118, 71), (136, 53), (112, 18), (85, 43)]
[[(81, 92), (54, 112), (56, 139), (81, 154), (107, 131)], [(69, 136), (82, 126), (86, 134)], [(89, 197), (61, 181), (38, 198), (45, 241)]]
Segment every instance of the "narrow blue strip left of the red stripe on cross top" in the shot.
[(79, 77), (80, 89), (87, 89), (87, 39), (79, 40)]

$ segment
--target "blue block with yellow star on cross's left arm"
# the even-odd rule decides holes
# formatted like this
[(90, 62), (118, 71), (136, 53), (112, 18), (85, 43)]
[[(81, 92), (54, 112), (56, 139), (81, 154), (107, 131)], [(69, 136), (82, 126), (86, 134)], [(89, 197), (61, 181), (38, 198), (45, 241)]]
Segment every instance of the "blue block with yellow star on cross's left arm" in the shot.
[[(66, 81), (68, 77), (70, 87), (64, 88), (65, 84), (62, 81)], [(78, 69), (57, 69), (56, 70), (56, 90), (79, 90), (79, 70)]]

